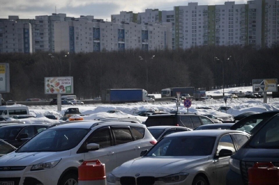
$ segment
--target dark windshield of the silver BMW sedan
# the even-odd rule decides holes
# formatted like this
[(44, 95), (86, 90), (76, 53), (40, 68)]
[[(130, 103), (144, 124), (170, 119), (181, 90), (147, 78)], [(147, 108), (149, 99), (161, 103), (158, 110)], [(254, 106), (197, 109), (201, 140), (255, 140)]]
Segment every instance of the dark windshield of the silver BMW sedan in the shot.
[(179, 136), (166, 137), (145, 156), (203, 156), (212, 153), (216, 137)]

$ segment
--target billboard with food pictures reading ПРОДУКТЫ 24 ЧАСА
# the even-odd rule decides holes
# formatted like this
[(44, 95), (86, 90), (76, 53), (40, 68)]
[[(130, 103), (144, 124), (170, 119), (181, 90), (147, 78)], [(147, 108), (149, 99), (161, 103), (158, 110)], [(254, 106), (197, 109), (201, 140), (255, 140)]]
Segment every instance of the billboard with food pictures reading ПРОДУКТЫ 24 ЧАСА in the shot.
[(45, 77), (45, 94), (73, 94), (74, 80), (72, 76)]

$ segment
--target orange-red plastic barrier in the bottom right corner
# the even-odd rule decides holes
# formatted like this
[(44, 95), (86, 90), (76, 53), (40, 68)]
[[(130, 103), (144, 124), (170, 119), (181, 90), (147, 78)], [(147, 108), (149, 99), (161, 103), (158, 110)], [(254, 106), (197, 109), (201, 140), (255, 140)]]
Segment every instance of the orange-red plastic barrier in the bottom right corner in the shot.
[(248, 169), (249, 185), (279, 185), (279, 168), (271, 162), (255, 163)]

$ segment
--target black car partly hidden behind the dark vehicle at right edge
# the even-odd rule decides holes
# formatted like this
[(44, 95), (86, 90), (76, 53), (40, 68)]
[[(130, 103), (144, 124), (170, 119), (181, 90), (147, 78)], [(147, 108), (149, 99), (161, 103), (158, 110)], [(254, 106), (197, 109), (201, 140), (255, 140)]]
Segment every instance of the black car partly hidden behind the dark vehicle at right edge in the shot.
[(279, 111), (266, 111), (263, 113), (247, 116), (246, 118), (236, 122), (232, 127), (230, 127), (230, 129), (245, 131), (253, 135), (262, 126), (262, 124), (278, 113)]

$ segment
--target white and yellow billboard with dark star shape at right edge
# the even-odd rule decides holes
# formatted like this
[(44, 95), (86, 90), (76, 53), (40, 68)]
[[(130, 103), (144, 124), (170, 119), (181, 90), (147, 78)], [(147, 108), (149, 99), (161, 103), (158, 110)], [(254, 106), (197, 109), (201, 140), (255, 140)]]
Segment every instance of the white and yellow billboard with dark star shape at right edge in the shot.
[(255, 79), (252, 81), (253, 92), (277, 92), (277, 78)]

